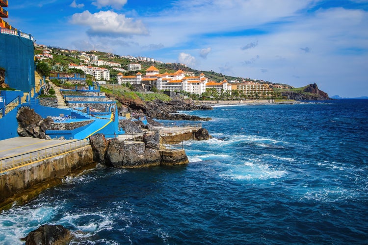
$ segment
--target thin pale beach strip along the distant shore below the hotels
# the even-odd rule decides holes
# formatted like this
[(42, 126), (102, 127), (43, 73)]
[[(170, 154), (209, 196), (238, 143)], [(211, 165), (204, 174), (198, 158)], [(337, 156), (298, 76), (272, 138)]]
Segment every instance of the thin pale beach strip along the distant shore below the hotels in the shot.
[(196, 105), (264, 105), (264, 104), (296, 104), (304, 103), (297, 100), (288, 99), (242, 99), (242, 100), (195, 100)]

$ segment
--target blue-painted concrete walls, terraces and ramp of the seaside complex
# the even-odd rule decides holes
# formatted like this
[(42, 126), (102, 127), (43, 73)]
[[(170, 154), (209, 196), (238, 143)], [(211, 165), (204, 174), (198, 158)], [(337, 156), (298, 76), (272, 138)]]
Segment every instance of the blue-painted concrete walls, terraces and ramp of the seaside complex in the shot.
[[(37, 91), (44, 88), (45, 78), (40, 80), (39, 88), (35, 88), (34, 49), (31, 35), (0, 28), (0, 57), (0, 67), (5, 70), (5, 83), (17, 89), (17, 91), (0, 91), (0, 140), (19, 136), (16, 116), (21, 106), (29, 106), (42, 118), (59, 117), (63, 114), (72, 116), (76, 122), (86, 121), (88, 123), (72, 130), (47, 130), (46, 134), (52, 139), (61, 136), (65, 139), (85, 139), (96, 133), (103, 133), (112, 137), (125, 133), (124, 130), (119, 128), (118, 108), (115, 101), (106, 101), (104, 97), (101, 97), (103, 101), (91, 101), (96, 100), (96, 93), (101, 93), (100, 86), (65, 86), (70, 89), (61, 90), (87, 94), (82, 97), (79, 96), (80, 101), (70, 101), (75, 104), (85, 103), (85, 112), (79, 111), (80, 108), (78, 107), (75, 109), (54, 108), (39, 104), (37, 97), (40, 93), (37, 93)], [(58, 78), (61, 79), (60, 76)], [(80, 79), (82, 77), (76, 75), (74, 78)], [(62, 86), (64, 87), (64, 85)], [(24, 93), (27, 93), (26, 100), (23, 98)], [(88, 94), (91, 94), (91, 97)], [(89, 100), (88, 98), (94, 99)], [(89, 106), (93, 108), (95, 105), (99, 108), (105, 108), (105, 111), (90, 110)], [(141, 120), (144, 124), (147, 124), (145, 118)], [(65, 121), (65, 123), (68, 122)]]

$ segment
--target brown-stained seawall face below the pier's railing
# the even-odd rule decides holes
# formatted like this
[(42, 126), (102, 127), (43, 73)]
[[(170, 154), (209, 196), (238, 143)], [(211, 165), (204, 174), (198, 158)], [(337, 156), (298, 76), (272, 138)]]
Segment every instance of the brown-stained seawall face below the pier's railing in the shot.
[(14, 201), (24, 202), (46, 188), (61, 183), (66, 175), (95, 166), (92, 148), (88, 145), (2, 173), (0, 175), (0, 210)]

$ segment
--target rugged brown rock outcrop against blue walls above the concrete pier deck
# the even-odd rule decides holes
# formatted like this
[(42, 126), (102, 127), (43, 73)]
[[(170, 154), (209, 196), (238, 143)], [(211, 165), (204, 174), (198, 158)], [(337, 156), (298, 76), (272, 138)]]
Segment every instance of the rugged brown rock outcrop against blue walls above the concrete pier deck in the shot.
[(33, 109), (24, 106), (18, 110), (17, 121), (17, 133), (20, 136), (38, 139), (50, 139), (45, 132), (51, 127), (53, 119), (43, 119)]

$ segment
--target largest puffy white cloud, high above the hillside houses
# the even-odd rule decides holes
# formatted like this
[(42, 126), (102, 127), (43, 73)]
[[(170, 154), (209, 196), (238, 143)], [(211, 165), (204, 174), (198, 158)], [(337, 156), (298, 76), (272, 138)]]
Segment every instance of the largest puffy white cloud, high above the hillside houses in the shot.
[(147, 35), (148, 30), (142, 21), (134, 21), (124, 14), (113, 11), (100, 11), (91, 14), (88, 10), (72, 16), (72, 24), (88, 26), (88, 35), (91, 36), (131, 36)]

